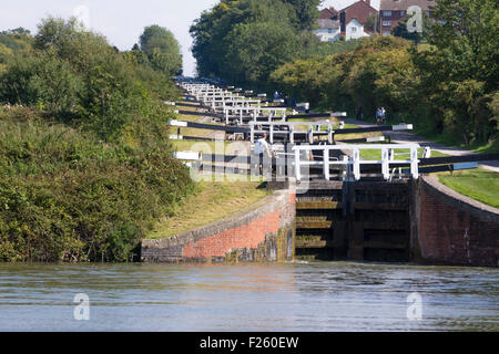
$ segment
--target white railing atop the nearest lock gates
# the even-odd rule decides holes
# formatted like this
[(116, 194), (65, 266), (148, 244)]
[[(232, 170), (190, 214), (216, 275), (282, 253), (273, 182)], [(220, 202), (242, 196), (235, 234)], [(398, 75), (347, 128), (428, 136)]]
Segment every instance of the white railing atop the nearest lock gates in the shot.
[[(414, 179), (419, 177), (418, 174), (418, 148), (419, 144), (366, 144), (366, 145), (299, 145), (294, 146), (295, 153), (295, 177), (296, 180), (302, 180), (302, 166), (322, 166), (323, 175), (325, 179), (329, 179), (329, 166), (339, 165), (350, 167), (355, 180), (360, 179), (360, 165), (381, 165), (381, 174), (384, 179), (390, 178), (390, 165), (391, 164), (410, 164), (410, 175)], [(381, 159), (361, 159), (361, 150), (379, 149), (381, 153)], [(395, 149), (408, 149), (408, 159), (395, 159), (395, 154), (390, 153)], [(322, 150), (323, 160), (309, 159), (310, 152)], [(344, 160), (332, 160), (329, 156), (330, 150), (350, 150), (353, 155), (350, 157), (345, 156)], [(302, 152), (306, 152), (307, 159), (302, 159)], [(426, 152), (425, 152), (426, 153)]]

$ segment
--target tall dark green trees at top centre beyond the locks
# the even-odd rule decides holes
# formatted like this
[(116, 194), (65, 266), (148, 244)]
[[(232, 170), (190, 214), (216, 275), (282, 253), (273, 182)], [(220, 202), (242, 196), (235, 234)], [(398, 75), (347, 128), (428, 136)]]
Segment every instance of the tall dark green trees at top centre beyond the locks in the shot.
[(202, 76), (265, 86), (279, 65), (298, 58), (314, 37), (318, 1), (222, 0), (191, 27)]

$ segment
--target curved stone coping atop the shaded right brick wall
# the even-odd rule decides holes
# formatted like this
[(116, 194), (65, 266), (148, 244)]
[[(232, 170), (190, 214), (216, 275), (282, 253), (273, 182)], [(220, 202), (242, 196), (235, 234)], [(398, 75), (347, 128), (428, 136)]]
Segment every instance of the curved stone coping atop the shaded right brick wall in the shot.
[(428, 194), (438, 197), (445, 204), (469, 212), (483, 221), (499, 223), (499, 209), (457, 192), (441, 184), (437, 177), (421, 176), (421, 185)]

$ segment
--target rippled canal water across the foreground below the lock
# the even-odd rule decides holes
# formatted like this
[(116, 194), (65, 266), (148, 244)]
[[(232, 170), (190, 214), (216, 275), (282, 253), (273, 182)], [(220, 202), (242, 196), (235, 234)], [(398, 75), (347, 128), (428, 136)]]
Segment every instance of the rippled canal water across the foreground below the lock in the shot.
[(3, 263), (0, 331), (499, 331), (498, 285), (487, 268)]

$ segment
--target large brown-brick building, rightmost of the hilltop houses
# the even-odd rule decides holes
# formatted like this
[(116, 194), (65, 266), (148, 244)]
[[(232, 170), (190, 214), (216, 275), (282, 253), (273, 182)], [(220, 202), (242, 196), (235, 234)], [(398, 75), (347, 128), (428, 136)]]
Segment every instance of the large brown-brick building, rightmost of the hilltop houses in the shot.
[(436, 2), (431, 0), (380, 0), (379, 12), (383, 35), (390, 34), (391, 29), (407, 15), (407, 9), (411, 6), (417, 6), (431, 15), (431, 7), (436, 6)]

